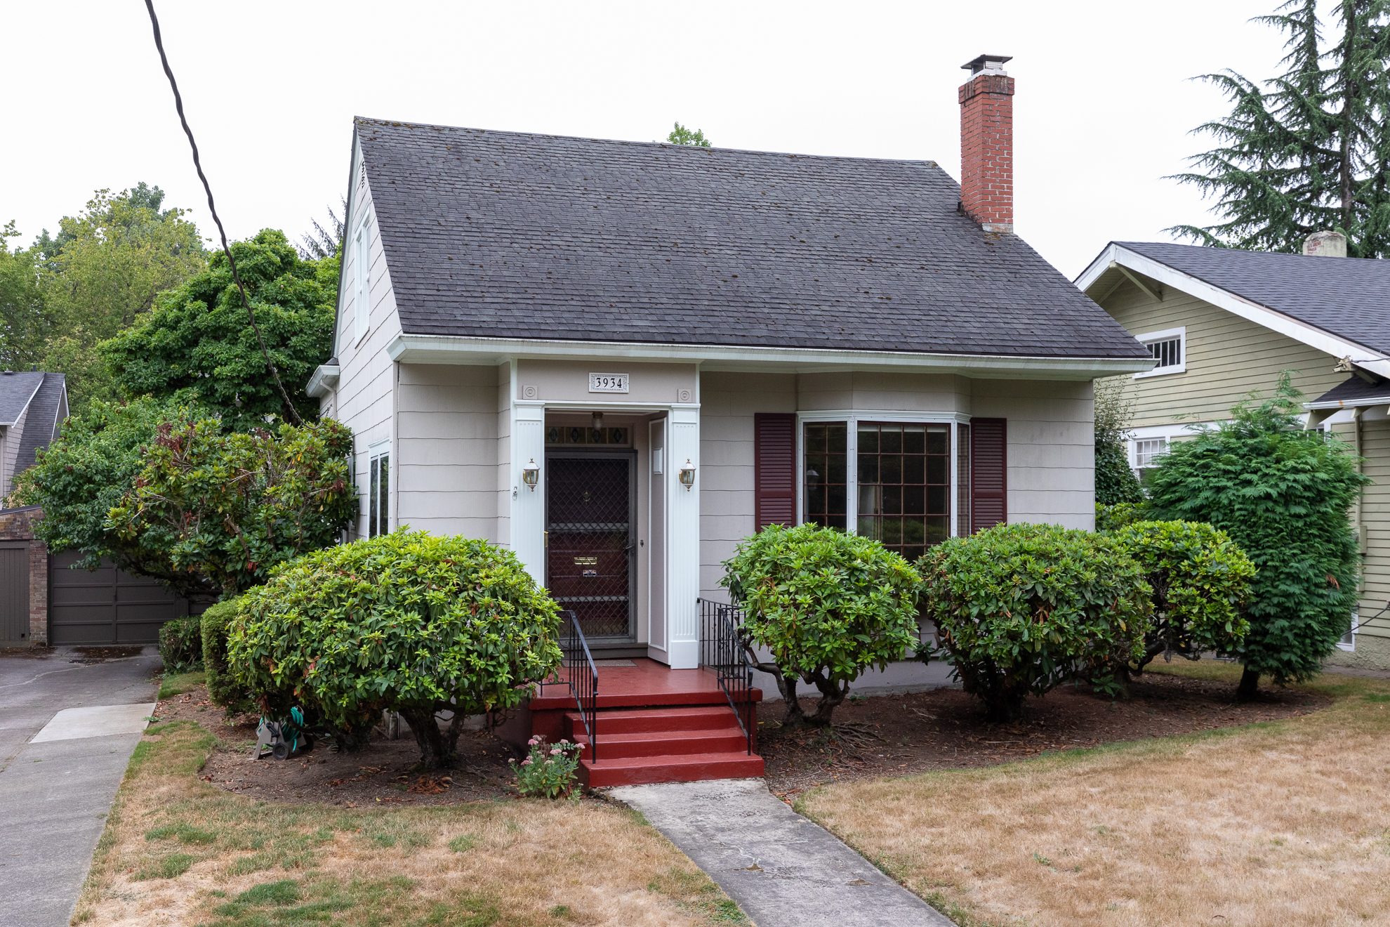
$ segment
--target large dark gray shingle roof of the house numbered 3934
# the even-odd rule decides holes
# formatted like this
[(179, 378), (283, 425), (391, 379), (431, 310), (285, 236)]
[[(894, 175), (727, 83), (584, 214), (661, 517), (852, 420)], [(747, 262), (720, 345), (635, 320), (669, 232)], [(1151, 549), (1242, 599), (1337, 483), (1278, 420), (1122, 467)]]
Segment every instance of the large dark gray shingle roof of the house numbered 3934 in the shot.
[(357, 131), (407, 334), (1147, 357), (931, 161)]

